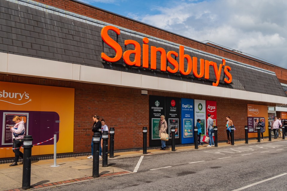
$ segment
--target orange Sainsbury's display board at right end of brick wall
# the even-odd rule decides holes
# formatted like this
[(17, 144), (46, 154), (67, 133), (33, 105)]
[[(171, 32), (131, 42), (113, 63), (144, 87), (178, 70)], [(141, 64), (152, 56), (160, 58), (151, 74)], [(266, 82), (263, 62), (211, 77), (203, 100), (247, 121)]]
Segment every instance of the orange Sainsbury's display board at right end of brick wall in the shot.
[(263, 136), (268, 136), (268, 131), (266, 131), (268, 129), (268, 107), (247, 104), (248, 137), (257, 137), (257, 125), (260, 119), (265, 123)]

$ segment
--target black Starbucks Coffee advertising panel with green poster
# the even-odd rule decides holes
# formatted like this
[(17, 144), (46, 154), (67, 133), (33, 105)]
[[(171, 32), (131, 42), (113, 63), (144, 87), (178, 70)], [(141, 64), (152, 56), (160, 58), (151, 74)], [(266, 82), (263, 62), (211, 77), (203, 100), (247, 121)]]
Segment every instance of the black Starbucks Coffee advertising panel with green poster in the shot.
[(165, 97), (149, 96), (149, 146), (161, 145), (158, 136), (158, 123), (161, 120), (161, 115), (165, 116)]

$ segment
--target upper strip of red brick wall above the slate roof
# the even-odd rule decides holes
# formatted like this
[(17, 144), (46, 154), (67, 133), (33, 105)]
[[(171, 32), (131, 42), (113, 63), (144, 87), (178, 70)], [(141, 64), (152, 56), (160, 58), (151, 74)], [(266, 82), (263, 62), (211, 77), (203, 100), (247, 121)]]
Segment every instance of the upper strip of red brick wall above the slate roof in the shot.
[[(218, 56), (222, 56), (228, 59), (236, 60), (238, 62), (242, 62), (248, 65), (253, 65), (258, 68), (263, 68), (265, 70), (273, 71), (276, 73), (279, 79), (287, 80), (287, 70), (277, 67), (266, 65), (262, 61), (255, 61), (248, 59), (245, 56), (242, 56), (238, 53), (226, 51), (224, 48), (216, 47), (215, 45), (207, 45), (205, 43), (197, 42), (195, 40), (187, 39), (182, 36), (178, 36), (173, 33), (169, 33), (167, 31), (151, 27), (149, 25), (145, 25), (141, 22), (137, 22), (131, 19), (128, 19), (123, 16), (115, 15), (109, 13), (104, 10), (100, 10), (82, 3), (78, 3), (72, 0), (34, 0), (37, 2), (41, 2), (43, 4), (51, 5), (54, 7), (58, 7), (63, 10), (67, 10), (70, 12), (74, 12), (80, 15), (88, 16), (93, 19), (97, 19), (103, 22), (111, 23), (113, 25), (121, 26), (127, 29), (135, 30), (137, 32), (145, 33), (150, 36), (154, 36), (160, 39), (168, 40), (170, 42), (175, 42), (187, 47), (195, 48), (197, 50), (201, 50), (207, 53), (215, 54)], [(282, 71), (282, 74), (281, 74)]]

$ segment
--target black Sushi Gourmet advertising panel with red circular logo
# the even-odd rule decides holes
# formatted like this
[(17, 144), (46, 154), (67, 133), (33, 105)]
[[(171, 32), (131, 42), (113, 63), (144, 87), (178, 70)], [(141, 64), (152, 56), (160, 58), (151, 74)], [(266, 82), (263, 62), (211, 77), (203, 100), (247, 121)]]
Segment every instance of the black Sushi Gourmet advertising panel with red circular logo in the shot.
[(181, 123), (180, 123), (180, 99), (176, 97), (166, 97), (166, 120), (168, 126), (169, 141), (171, 144), (171, 128), (175, 127), (175, 144), (180, 144)]

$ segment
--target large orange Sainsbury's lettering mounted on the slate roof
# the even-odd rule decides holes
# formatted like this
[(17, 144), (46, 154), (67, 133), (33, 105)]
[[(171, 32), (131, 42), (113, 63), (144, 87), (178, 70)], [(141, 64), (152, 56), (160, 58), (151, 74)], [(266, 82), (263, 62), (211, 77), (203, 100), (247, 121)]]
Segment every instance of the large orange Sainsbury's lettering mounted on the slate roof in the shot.
[[(135, 40), (125, 40), (125, 46), (126, 45), (134, 45), (134, 50), (126, 50), (123, 52), (121, 46), (108, 35), (108, 31), (112, 30), (117, 35), (120, 35), (120, 29), (113, 27), (113, 26), (105, 26), (103, 27), (101, 31), (101, 37), (103, 41), (113, 48), (115, 50), (115, 57), (111, 58), (107, 56), (104, 52), (101, 54), (101, 58), (108, 61), (108, 62), (117, 62), (121, 59), (123, 56), (123, 61), (127, 65), (134, 65), (137, 67), (143, 68), (149, 68), (149, 39), (144, 37), (143, 38), (143, 45), (142, 45), (142, 54), (141, 55), (141, 45), (135, 41)], [(216, 77), (216, 83), (212, 83), (213, 86), (217, 86), (219, 84), (220, 80), (220, 74), (223, 72), (225, 76), (228, 78), (224, 78), (225, 83), (231, 83), (232, 76), (230, 74), (230, 66), (225, 65), (225, 59), (222, 59), (222, 64), (219, 64), (219, 67), (217, 66), (216, 62), (200, 59), (200, 69), (199, 74), (197, 72), (197, 57), (190, 57), (188, 54), (184, 54), (184, 46), (179, 46), (179, 53), (175, 51), (168, 51), (166, 52), (163, 48), (157, 48), (155, 46), (150, 46), (150, 69), (155, 70), (156, 69), (156, 54), (159, 52), (161, 54), (161, 71), (168, 71), (170, 73), (176, 73), (179, 72), (182, 75), (188, 75), (191, 72), (196, 78), (201, 78), (204, 76), (204, 79), (209, 79), (209, 67), (213, 66), (215, 77)], [(130, 55), (134, 54), (135, 59), (133, 61), (130, 60)], [(142, 56), (142, 63), (141, 63), (141, 56)], [(173, 58), (172, 56), (179, 57), (178, 61)], [(187, 60), (187, 69), (184, 70), (184, 59)], [(172, 67), (167, 66), (167, 61), (172, 65)]]

